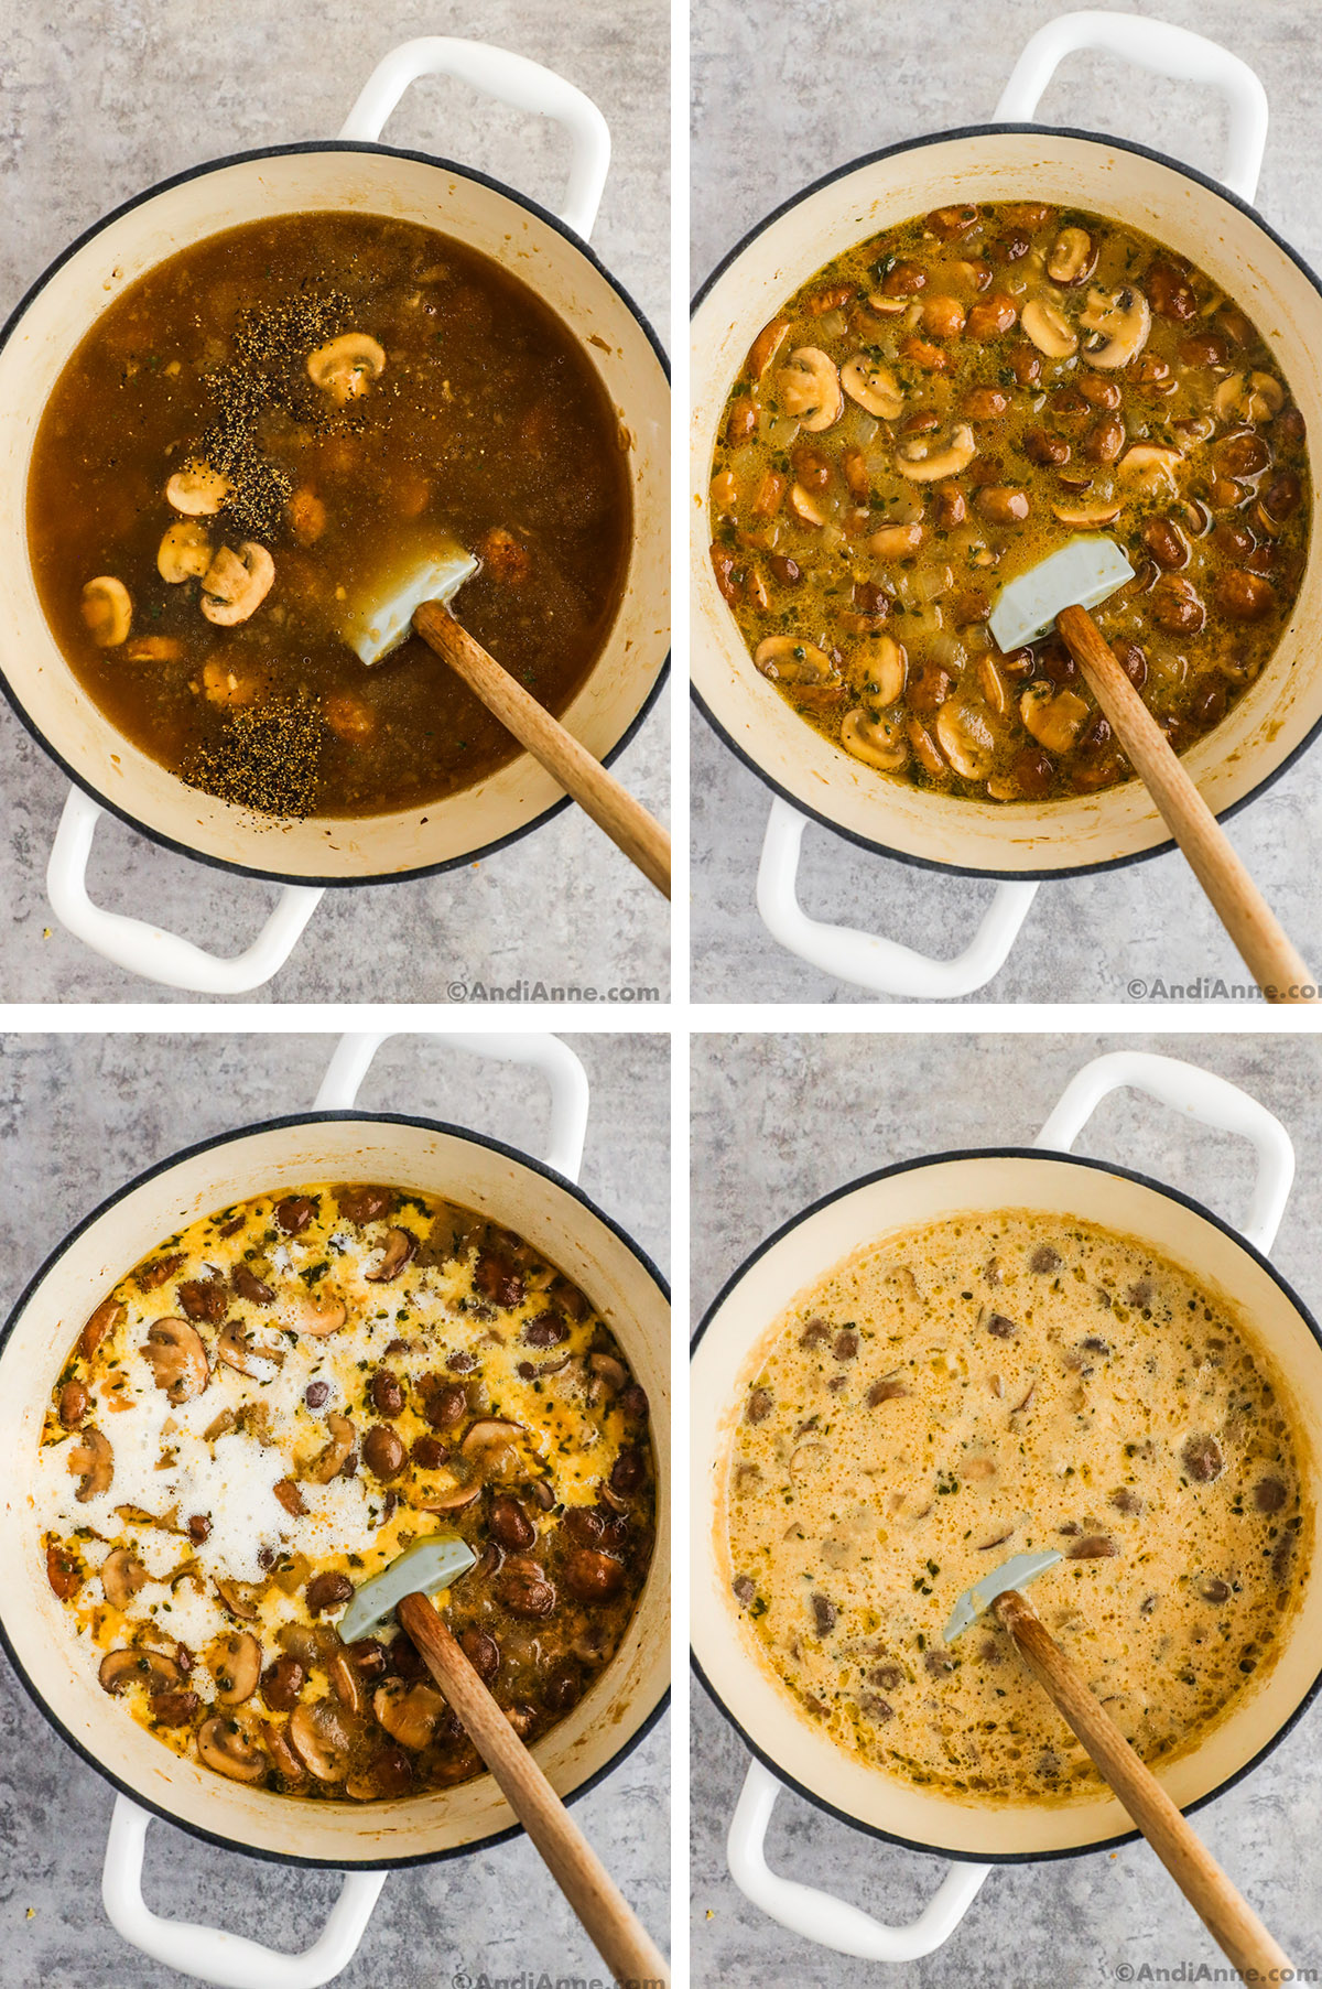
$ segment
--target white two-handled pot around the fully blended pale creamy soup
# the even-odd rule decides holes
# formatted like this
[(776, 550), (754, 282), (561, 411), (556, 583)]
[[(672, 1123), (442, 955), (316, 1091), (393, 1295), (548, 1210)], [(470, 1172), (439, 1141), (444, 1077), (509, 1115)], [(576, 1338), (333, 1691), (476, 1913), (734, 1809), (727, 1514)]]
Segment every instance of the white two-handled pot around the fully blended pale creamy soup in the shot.
[[(1207, 1126), (1242, 1134), (1258, 1174), (1242, 1233), (1177, 1189), (1125, 1168), (1070, 1158), (1070, 1146), (1107, 1092), (1131, 1086)], [(1217, 1285), (1252, 1321), (1274, 1358), (1296, 1428), (1310, 1498), (1300, 1537), (1316, 1561), (1322, 1498), (1322, 1335), (1266, 1259), (1284, 1213), (1294, 1152), (1278, 1120), (1225, 1078), (1167, 1056), (1119, 1050), (1087, 1064), (1042, 1128), (1036, 1150), (944, 1154), (851, 1181), (777, 1229), (736, 1271), (706, 1315), (692, 1360), (692, 1637), (694, 1663), (753, 1760), (736, 1808), (728, 1854), (736, 1884), (783, 1927), (867, 1961), (914, 1961), (940, 1947), (972, 1905), (994, 1864), (1074, 1858), (1137, 1832), (1109, 1794), (1068, 1808), (964, 1806), (918, 1790), (845, 1754), (797, 1715), (763, 1671), (730, 1593), (724, 1545), (724, 1478), (747, 1380), (765, 1335), (803, 1293), (859, 1245), (966, 1211), (1042, 1209), (1083, 1217), (1139, 1237), (1163, 1257)], [(1312, 1581), (1270, 1677), (1191, 1754), (1159, 1770), (1183, 1810), (1229, 1788), (1288, 1732), (1322, 1677), (1322, 1583)], [(932, 1852), (952, 1866), (924, 1911), (893, 1927), (799, 1880), (773, 1874), (765, 1832), (781, 1786), (869, 1836)]]

